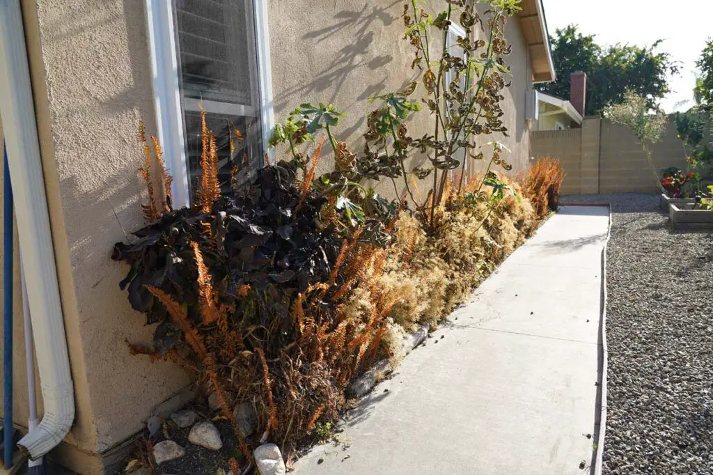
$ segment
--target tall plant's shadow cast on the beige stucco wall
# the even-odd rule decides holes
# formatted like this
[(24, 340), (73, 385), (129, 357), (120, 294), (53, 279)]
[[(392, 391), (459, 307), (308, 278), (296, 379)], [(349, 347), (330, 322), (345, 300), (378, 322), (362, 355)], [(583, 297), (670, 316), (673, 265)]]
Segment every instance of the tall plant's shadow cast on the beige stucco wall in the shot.
[[(309, 83), (297, 81), (297, 84), (290, 86), (275, 98), (275, 113), (287, 113), (287, 108), (292, 108), (296, 101), (312, 95), (312, 93), (322, 94), (330, 91), (329, 96), (322, 98), (323, 101), (334, 103), (337, 98), (342, 97), (344, 83), (350, 75), (353, 75), (363, 68), (371, 71), (379, 70), (390, 63), (394, 58), (389, 54), (380, 54), (369, 59), (372, 44), (374, 43), (374, 27), (376, 25), (391, 26), (396, 21), (396, 16), (389, 11), (394, 6), (399, 6), (400, 1), (394, 1), (388, 6), (368, 6), (364, 5), (361, 10), (344, 10), (334, 15), (335, 23), (321, 29), (308, 31), (301, 39), (304, 42), (302, 48), (307, 51), (325, 51), (320, 54), (321, 63), (314, 66), (327, 66), (322, 71), (314, 71), (314, 80)], [(347, 37), (351, 39), (348, 44), (339, 48), (334, 55), (329, 55), (330, 42), (337, 38)], [(330, 57), (331, 56), (331, 57)], [(366, 101), (371, 96), (384, 92), (388, 75), (383, 75), (379, 82), (367, 85), (364, 91), (356, 96), (356, 101)], [(298, 78), (302, 79), (302, 78)], [(352, 96), (352, 94), (347, 94)], [(339, 108), (347, 110), (356, 101), (350, 104), (340, 104)], [(356, 128), (354, 128), (356, 130)], [(351, 135), (353, 130), (344, 131), (345, 136)]]

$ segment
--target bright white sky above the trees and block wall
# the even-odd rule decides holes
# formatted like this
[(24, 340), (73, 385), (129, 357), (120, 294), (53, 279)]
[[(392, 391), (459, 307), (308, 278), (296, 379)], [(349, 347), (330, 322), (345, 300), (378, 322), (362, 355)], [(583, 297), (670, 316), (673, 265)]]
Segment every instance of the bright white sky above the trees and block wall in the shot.
[[(550, 35), (570, 23), (597, 44), (650, 46), (663, 39), (660, 51), (679, 61), (681, 73), (670, 78), (672, 93), (662, 108), (673, 112), (694, 104), (695, 62), (707, 38), (713, 38), (713, 0), (543, 0)], [(681, 101), (687, 106), (677, 106)]]

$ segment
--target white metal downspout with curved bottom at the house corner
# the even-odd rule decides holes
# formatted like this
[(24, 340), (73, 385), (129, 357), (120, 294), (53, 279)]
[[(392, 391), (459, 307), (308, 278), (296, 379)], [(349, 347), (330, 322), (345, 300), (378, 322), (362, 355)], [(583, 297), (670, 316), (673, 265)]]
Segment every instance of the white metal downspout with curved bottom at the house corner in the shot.
[(44, 405), (39, 426), (18, 446), (37, 459), (68, 433), (74, 420), (74, 393), (19, 0), (0, 0), (0, 116)]

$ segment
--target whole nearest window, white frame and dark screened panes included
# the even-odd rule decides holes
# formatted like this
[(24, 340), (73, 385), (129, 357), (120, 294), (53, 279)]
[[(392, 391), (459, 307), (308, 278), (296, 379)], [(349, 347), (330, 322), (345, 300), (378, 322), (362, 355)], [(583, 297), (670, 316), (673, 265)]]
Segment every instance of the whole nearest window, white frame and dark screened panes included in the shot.
[[(201, 109), (215, 133), (219, 178), (262, 165), (272, 128), (267, 6), (260, 0), (145, 0), (159, 140), (187, 205), (200, 181)], [(240, 131), (230, 155), (230, 137)], [(178, 178), (178, 179), (177, 179)], [(246, 180), (245, 171), (239, 179)]]

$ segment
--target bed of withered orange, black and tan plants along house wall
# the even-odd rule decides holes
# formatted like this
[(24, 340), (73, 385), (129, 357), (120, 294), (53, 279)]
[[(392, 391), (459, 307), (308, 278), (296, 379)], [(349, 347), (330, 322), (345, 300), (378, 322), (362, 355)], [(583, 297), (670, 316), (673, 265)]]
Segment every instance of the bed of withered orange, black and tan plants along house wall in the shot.
[[(152, 344), (130, 349), (180, 364), (212, 394), (239, 441), (234, 474), (262, 442), (277, 444), (289, 463), (299, 446), (324, 439), (350, 382), (377, 359), (398, 359), (406, 332), (437, 325), (556, 208), (564, 176), (557, 160), (538, 161), (518, 183), (503, 174), (511, 168), (505, 148), (478, 141), (507, 132), (504, 27), (518, 1), (490, 0), (484, 16), (477, 3), (451, 1), (437, 14), (406, 4), (421, 81), (373, 98), (379, 107), (368, 116), (363, 153), (339, 141), (342, 112), (303, 103), (272, 134), (287, 156), (255, 170), (247, 187), (226, 187), (204, 114), (195, 203), (173, 210), (160, 145), (141, 126), (147, 225), (113, 258), (130, 265), (121, 287), (156, 327)], [(463, 58), (446, 48), (455, 21), (466, 31)], [(471, 41), (475, 28), (483, 34)], [(433, 36), (443, 40), (437, 57)], [(417, 90), (425, 91), (420, 102)], [(417, 113), (429, 115), (433, 134), (409, 136)], [(333, 167), (317, 175), (325, 146)], [(411, 168), (416, 154), (430, 165)], [(469, 174), (466, 160), (488, 165)], [(375, 180), (395, 190), (400, 181), (406, 193), (386, 200), (369, 186)], [(234, 414), (245, 403), (257, 419), (252, 438)], [(153, 464), (150, 451), (146, 458)]]

